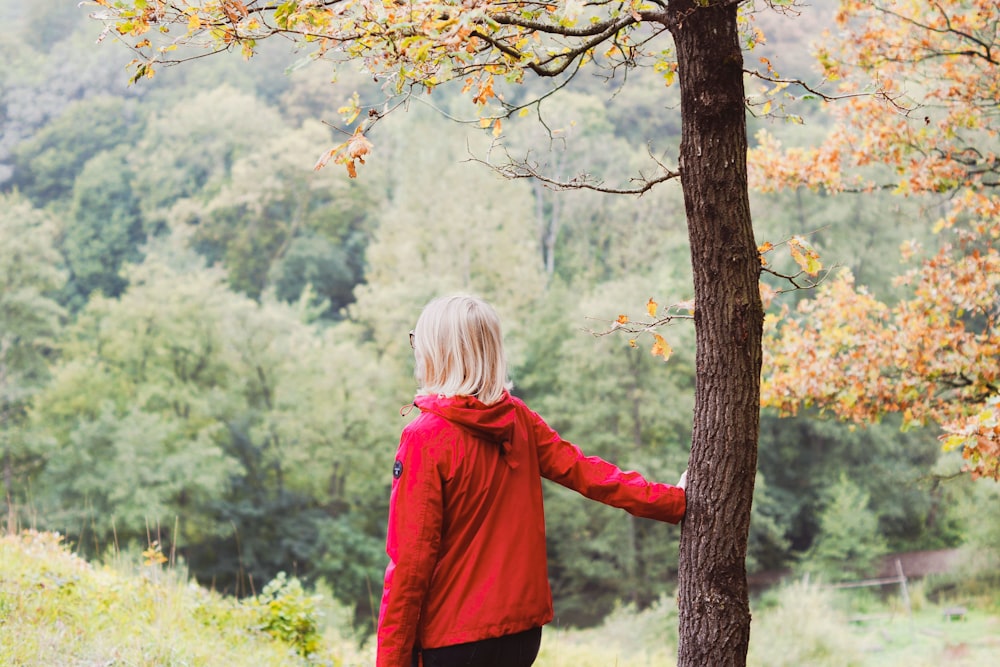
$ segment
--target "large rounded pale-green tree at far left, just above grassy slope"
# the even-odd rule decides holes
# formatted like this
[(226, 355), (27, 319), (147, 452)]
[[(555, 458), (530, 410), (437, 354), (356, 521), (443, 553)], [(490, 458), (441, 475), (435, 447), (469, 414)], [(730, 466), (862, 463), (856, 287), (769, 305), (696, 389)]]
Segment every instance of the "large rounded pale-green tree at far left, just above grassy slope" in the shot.
[(93, 297), (67, 329), (34, 413), (47, 446), (37, 487), (49, 526), (78, 538), (86, 530), (101, 548), (113, 534), (144, 541), (147, 525), (169, 531), (181, 517), (177, 544), (217, 530), (188, 510), (236, 470), (225, 450), (234, 378), (222, 319), (248, 306), (220, 272), (190, 269), (152, 254), (120, 299)]

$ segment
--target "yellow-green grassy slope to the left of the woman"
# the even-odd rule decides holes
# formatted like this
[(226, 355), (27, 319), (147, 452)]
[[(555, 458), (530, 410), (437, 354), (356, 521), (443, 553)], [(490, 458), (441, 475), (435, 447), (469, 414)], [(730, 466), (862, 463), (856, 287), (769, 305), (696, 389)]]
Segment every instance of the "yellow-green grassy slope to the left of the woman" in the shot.
[[(328, 665), (374, 662), (346, 612), (296, 583), (239, 601), (190, 584), (177, 569), (91, 565), (58, 536), (0, 538), (0, 665), (124, 667)], [(326, 623), (313, 622), (325, 618)], [(325, 627), (322, 627), (325, 626)], [(310, 645), (309, 642), (312, 642)], [(313, 652), (302, 655), (309, 645)]]

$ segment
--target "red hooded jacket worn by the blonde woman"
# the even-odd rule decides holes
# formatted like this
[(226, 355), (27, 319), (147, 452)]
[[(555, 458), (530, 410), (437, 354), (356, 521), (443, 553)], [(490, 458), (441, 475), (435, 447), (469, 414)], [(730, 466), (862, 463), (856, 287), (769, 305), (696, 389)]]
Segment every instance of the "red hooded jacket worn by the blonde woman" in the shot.
[(541, 477), (677, 523), (684, 490), (580, 449), (517, 398), (418, 396), (393, 467), (378, 667), (552, 620)]

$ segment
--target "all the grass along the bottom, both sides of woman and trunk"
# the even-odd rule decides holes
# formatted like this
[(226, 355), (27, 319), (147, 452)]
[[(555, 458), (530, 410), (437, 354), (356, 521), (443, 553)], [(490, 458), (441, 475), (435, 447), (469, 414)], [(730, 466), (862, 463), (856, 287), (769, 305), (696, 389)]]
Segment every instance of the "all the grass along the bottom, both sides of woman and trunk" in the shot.
[[(95, 565), (50, 533), (0, 537), (0, 665), (11, 667), (371, 665), (350, 614), (329, 591), (279, 577), (235, 600), (163, 567), (155, 550)], [(896, 599), (797, 582), (754, 601), (751, 667), (930, 667), (1000, 664), (1000, 595), (951, 585), (929, 601), (911, 587)], [(943, 609), (964, 606), (964, 620)], [(537, 667), (673, 667), (675, 600), (622, 607), (598, 627), (548, 626)]]

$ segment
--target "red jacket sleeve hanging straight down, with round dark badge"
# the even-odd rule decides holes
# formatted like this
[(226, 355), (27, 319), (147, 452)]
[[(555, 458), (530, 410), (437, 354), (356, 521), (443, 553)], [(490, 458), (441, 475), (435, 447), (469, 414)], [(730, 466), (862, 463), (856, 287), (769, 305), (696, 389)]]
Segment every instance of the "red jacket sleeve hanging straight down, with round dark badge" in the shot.
[(393, 468), (377, 667), (410, 667), (420, 609), (441, 543), (442, 485), (433, 448), (404, 431)]

